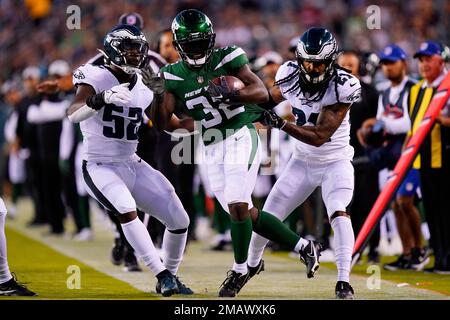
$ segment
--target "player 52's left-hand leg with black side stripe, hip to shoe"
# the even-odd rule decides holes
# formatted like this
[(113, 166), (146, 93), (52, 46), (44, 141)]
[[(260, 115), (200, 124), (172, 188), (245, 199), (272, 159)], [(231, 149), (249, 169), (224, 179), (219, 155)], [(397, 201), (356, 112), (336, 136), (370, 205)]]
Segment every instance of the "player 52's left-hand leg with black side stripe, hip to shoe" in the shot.
[[(83, 162), (88, 193), (117, 216), (127, 241), (158, 281), (164, 280), (167, 287), (164, 286), (163, 294), (170, 296), (178, 292), (178, 286), (162, 264), (147, 228), (137, 217), (136, 202), (127, 186), (130, 174), (129, 167), (124, 164)], [(124, 177), (128, 181), (124, 181)]]

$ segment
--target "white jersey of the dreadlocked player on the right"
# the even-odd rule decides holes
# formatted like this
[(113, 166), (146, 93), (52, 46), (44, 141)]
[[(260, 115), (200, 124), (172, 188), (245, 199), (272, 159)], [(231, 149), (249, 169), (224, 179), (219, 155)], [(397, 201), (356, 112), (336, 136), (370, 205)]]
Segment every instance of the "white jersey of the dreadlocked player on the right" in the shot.
[[(275, 80), (279, 81), (284, 79), (295, 73), (297, 70), (298, 64), (296, 61), (285, 62), (278, 69)], [(340, 103), (351, 104), (358, 100), (361, 95), (361, 85), (359, 80), (341, 69), (337, 69), (337, 76), (334, 76), (329, 81), (328, 88), (321, 99), (317, 99), (317, 93), (307, 99), (300, 88), (288, 92), (290, 88), (296, 86), (298, 81), (299, 78), (297, 75), (279, 86), (283, 97), (288, 100), (292, 106), (292, 113), (295, 115), (296, 124), (298, 126), (314, 126), (319, 113), (324, 106), (334, 105), (338, 103), (338, 101)], [(352, 160), (354, 151), (349, 143), (349, 112), (347, 112), (347, 115), (336, 132), (331, 136), (330, 142), (326, 142), (320, 147), (315, 147), (297, 139), (295, 139), (295, 141), (296, 144), (293, 156), (296, 158), (323, 162), (338, 159)]]

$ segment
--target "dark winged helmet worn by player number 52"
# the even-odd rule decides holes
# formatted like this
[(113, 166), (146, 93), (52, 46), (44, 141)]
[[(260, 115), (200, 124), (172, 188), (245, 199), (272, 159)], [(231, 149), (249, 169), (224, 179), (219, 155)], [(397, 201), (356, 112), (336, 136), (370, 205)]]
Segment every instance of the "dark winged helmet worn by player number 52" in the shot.
[(131, 25), (118, 25), (103, 41), (106, 63), (117, 66), (128, 74), (136, 73), (146, 61), (148, 42), (144, 34)]

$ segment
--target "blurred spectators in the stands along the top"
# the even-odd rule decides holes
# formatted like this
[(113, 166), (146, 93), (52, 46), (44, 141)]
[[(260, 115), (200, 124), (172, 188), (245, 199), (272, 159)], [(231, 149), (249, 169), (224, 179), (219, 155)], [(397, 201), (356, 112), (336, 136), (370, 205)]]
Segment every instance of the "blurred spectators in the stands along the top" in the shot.
[[(69, 30), (70, 5), (81, 9), (81, 29)], [(381, 9), (381, 28), (369, 30), (367, 7)], [(3, 0), (0, 2), (0, 82), (27, 65), (59, 58), (77, 66), (96, 52), (105, 33), (124, 12), (139, 12), (153, 45), (184, 8), (201, 8), (214, 21), (217, 44), (236, 44), (249, 57), (267, 51), (286, 56), (289, 41), (311, 26), (326, 26), (341, 48), (377, 51), (391, 42), (412, 56), (424, 39), (448, 43), (450, 3), (445, 0)], [(413, 67), (414, 68), (414, 67)]]

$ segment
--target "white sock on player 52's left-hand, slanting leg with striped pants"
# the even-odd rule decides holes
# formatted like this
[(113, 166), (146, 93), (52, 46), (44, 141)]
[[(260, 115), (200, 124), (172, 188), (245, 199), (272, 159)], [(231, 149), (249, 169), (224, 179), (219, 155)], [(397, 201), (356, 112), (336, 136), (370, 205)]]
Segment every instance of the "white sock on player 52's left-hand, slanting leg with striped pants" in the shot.
[(136, 217), (133, 221), (123, 223), (122, 229), (136, 255), (142, 259), (155, 276), (166, 269), (153, 245), (147, 228), (139, 218)]

